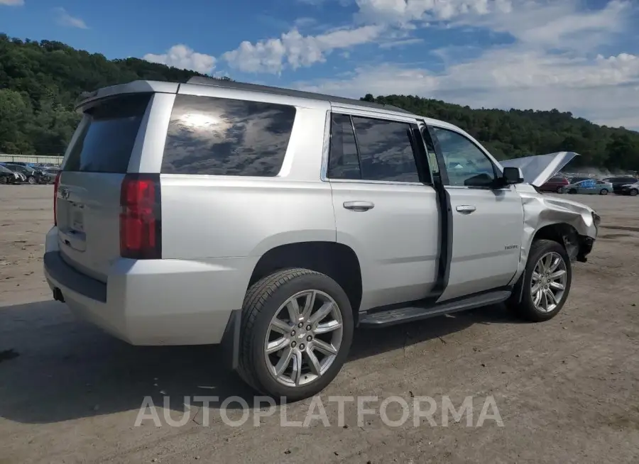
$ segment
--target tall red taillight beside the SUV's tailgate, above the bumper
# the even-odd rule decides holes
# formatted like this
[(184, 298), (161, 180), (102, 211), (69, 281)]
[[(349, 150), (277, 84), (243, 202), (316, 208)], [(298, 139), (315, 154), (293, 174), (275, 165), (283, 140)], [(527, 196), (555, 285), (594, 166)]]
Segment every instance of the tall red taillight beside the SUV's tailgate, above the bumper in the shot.
[(136, 260), (162, 258), (160, 176), (127, 174), (120, 208), (120, 255)]

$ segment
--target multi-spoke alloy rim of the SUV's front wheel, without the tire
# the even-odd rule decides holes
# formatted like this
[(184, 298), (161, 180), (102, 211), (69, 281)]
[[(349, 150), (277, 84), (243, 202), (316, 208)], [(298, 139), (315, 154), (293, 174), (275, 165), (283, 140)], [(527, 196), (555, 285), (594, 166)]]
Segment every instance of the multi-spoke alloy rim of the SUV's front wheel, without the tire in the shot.
[(532, 304), (543, 313), (552, 312), (564, 297), (568, 271), (562, 255), (555, 251), (542, 255), (532, 270)]

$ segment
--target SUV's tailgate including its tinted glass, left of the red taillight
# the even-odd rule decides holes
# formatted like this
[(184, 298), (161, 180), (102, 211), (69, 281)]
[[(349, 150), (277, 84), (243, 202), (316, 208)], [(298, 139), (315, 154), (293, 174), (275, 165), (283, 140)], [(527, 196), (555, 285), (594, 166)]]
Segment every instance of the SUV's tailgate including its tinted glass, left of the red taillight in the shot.
[(84, 107), (61, 167), (58, 241), (62, 259), (102, 282), (119, 258), (120, 187), (143, 143), (153, 94), (119, 94)]

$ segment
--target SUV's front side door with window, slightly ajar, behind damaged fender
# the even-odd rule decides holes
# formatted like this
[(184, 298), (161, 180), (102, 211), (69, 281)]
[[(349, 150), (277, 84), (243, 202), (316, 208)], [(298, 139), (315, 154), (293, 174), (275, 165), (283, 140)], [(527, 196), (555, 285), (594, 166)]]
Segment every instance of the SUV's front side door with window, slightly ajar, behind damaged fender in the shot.
[[(452, 128), (430, 126), (443, 158), (452, 217), (449, 276), (439, 302), (508, 285), (521, 253), (523, 206), (478, 144)], [(445, 178), (447, 177), (447, 180)]]

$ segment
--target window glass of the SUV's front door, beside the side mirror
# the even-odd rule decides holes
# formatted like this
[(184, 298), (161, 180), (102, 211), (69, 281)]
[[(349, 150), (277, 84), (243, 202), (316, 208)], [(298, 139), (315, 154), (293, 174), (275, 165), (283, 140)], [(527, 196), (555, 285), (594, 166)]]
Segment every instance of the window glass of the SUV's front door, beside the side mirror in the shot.
[(493, 184), (495, 167), (477, 145), (455, 131), (433, 129), (442, 150), (449, 185), (490, 187)]

